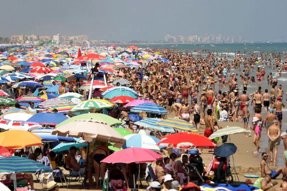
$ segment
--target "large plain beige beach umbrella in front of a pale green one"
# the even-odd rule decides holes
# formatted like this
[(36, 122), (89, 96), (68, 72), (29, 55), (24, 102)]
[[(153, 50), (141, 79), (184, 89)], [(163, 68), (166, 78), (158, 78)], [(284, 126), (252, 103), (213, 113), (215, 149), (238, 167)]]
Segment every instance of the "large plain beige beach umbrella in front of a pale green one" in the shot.
[(52, 131), (52, 135), (84, 137), (87, 142), (101, 141), (115, 143), (114, 147), (121, 148), (125, 139), (114, 128), (97, 120), (76, 120), (66, 123)]

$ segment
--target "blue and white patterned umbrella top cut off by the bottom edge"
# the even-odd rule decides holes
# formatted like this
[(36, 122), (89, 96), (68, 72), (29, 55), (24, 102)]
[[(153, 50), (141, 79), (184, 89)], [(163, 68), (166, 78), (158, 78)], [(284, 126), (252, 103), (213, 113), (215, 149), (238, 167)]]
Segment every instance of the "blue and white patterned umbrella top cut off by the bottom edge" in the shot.
[(201, 191), (262, 191), (254, 186), (239, 184), (204, 184), (200, 189)]

